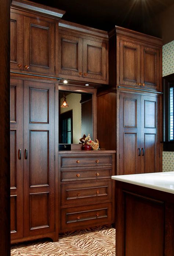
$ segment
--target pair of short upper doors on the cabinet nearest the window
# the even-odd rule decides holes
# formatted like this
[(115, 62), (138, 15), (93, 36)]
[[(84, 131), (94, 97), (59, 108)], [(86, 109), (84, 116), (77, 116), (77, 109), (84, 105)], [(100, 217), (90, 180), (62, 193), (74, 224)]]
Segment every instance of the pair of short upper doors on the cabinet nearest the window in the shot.
[(117, 84), (161, 91), (161, 48), (123, 38), (117, 44)]

